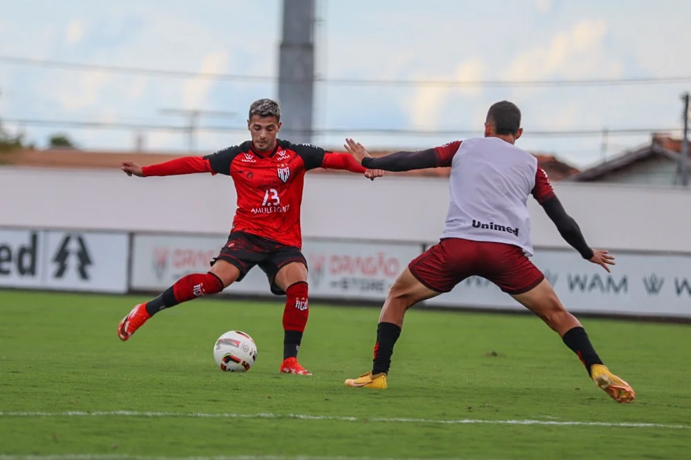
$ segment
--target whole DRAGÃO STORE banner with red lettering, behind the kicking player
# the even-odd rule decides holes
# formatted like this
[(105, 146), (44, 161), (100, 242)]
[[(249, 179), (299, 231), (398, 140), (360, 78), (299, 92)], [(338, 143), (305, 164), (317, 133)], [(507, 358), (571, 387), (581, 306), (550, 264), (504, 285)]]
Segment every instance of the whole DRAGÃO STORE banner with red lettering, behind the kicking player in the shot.
[[(135, 235), (132, 289), (161, 291), (191, 273), (206, 273), (225, 236)], [(422, 245), (306, 240), (310, 295), (323, 298), (384, 300), (396, 276), (419, 255)], [(270, 295), (266, 275), (254, 267), (223, 294)]]

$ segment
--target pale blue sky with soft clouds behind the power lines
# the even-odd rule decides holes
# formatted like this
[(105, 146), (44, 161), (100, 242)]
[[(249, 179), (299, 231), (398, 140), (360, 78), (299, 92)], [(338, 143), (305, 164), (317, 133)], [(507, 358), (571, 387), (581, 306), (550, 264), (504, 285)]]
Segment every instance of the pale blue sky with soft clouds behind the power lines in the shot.
[[(228, 82), (95, 70), (19, 66), (2, 57), (182, 70), (278, 75), (282, 1), (0, 0), (0, 119), (50, 119), (180, 125), (163, 108), (237, 113), (200, 124), (243, 126), (249, 104), (276, 97), (275, 82)], [(458, 81), (691, 76), (688, 18), (681, 0), (318, 0), (316, 70), (326, 79)], [(600, 159), (602, 140), (530, 131), (673, 128), (691, 82), (648, 86), (342, 86), (320, 82), (315, 128), (480, 132), (489, 105), (520, 106), (520, 146), (576, 166)], [(7, 124), (16, 129), (15, 125)], [(66, 132), (79, 146), (129, 149), (131, 129), (24, 126), (44, 146)], [(675, 133), (677, 134), (677, 133)], [(151, 150), (182, 150), (186, 137), (146, 131)], [(462, 136), (459, 136), (462, 137)], [(247, 138), (198, 133), (201, 151)], [(449, 135), (361, 134), (371, 148), (419, 148)], [(607, 154), (650, 135), (610, 136)], [(313, 143), (343, 144), (343, 135)]]

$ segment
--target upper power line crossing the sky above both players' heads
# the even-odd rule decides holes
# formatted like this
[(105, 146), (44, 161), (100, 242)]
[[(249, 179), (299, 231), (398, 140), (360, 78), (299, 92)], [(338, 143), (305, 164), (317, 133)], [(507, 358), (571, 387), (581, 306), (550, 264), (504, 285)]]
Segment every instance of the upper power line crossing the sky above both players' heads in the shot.
[[(120, 73), (124, 75), (149, 75), (153, 77), (170, 77), (182, 79), (212, 79), (226, 82), (245, 83), (273, 83), (277, 77), (264, 75), (241, 75), (225, 73), (196, 73), (184, 70), (163, 70), (129, 66), (104, 66), (100, 64), (84, 64), (67, 61), (52, 61), (46, 59), (31, 59), (26, 57), (0, 56), (0, 62), (16, 66), (35, 66), (45, 68), (60, 68), (64, 70), (98, 71), (104, 73)], [(299, 80), (294, 80), (299, 82)], [(316, 82), (323, 82), (332, 86), (632, 86), (641, 84), (675, 84), (691, 82), (691, 76), (677, 77), (628, 77), (615, 79), (543, 79), (543, 80), (401, 80), (401, 79), (338, 79), (317, 77)]]

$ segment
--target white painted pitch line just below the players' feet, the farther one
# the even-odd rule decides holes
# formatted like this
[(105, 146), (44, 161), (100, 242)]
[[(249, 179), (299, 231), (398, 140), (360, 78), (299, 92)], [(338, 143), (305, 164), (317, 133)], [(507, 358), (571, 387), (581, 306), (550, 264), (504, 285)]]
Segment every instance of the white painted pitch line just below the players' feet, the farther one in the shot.
[(668, 425), (665, 423), (635, 423), (635, 422), (585, 422), (585, 421), (553, 421), (553, 420), (482, 420), (482, 419), (395, 419), (384, 417), (353, 417), (338, 415), (305, 415), (305, 414), (233, 414), (233, 413), (205, 413), (205, 412), (138, 412), (132, 410), (111, 410), (94, 412), (0, 412), (0, 417), (181, 417), (199, 419), (299, 419), (299, 420), (334, 420), (334, 421), (369, 421), (391, 423), (438, 423), (442, 425), (557, 425), (557, 426), (605, 426), (614, 428), (674, 428), (688, 430), (691, 425)]

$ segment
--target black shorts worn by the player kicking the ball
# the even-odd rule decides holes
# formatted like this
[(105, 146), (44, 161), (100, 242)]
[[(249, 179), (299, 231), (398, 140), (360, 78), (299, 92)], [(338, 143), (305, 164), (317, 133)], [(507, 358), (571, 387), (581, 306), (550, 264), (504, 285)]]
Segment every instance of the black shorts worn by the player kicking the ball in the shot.
[(291, 262), (300, 262), (307, 267), (307, 260), (299, 248), (282, 245), (279, 242), (262, 238), (242, 231), (231, 232), (228, 242), (220, 250), (218, 256), (211, 260), (213, 266), (216, 260), (225, 260), (240, 270), (236, 282), (245, 278), (249, 271), (258, 265), (269, 279), (272, 294), (283, 296), (285, 292), (276, 286), (278, 270)]

